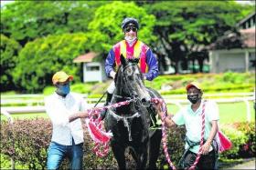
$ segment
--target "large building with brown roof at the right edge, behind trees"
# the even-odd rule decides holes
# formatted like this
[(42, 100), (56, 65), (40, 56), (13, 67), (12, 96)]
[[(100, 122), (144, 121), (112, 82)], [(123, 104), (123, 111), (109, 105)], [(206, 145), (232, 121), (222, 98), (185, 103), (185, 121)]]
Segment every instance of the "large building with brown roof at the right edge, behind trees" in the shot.
[(255, 18), (253, 13), (238, 23), (238, 33), (228, 32), (210, 46), (211, 73), (255, 70)]

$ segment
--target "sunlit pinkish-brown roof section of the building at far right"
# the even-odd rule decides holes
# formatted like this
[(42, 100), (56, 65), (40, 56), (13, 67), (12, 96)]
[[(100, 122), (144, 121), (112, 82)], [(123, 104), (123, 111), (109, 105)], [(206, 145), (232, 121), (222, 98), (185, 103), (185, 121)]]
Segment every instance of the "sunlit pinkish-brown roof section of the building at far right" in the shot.
[(255, 27), (248, 29), (241, 29), (240, 34), (242, 36), (243, 45), (245, 47), (256, 47), (255, 45)]

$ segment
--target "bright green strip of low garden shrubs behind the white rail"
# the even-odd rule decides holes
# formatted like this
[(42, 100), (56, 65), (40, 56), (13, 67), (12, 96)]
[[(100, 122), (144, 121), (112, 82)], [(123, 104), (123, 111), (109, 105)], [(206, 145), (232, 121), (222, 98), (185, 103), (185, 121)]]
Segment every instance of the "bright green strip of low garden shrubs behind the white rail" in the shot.
[[(145, 81), (149, 86), (159, 91), (161, 95), (186, 94), (185, 86), (192, 81), (198, 81), (204, 93), (216, 92), (252, 92), (254, 89), (254, 73), (225, 73), (225, 74), (194, 74), (194, 75), (159, 75), (154, 81)], [(85, 83), (71, 85), (71, 89), (81, 94), (88, 94), (90, 98), (99, 98), (107, 90), (111, 81), (104, 83)], [(162, 87), (170, 86), (170, 90), (162, 90)], [(53, 87), (46, 87), (45, 95), (51, 94)]]

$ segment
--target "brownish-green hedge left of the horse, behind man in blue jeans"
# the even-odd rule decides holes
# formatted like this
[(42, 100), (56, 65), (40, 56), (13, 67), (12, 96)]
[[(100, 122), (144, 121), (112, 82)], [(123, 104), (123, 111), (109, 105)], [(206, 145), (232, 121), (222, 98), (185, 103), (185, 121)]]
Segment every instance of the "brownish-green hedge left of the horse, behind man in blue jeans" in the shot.
[[(16, 120), (14, 125), (6, 121), (1, 122), (1, 168), (10, 168), (6, 160), (14, 157), (16, 167), (29, 169), (45, 169), (47, 150), (51, 138), (51, 124), (48, 119), (37, 118)], [(92, 169), (106, 169), (110, 165), (117, 168), (117, 163), (112, 152), (106, 157), (100, 158), (91, 152), (94, 146), (91, 137), (85, 132), (83, 167)], [(13, 145), (14, 142), (14, 145)], [(60, 169), (68, 169), (69, 162), (65, 160)]]

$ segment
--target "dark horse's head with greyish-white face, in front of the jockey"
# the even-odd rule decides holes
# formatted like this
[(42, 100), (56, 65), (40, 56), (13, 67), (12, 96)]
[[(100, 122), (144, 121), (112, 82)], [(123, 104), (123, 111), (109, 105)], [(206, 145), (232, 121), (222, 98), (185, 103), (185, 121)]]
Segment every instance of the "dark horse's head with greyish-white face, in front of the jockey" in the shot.
[(138, 67), (138, 59), (125, 59), (121, 55), (122, 65), (115, 76), (118, 95), (137, 98), (142, 105), (150, 105), (150, 95), (144, 86), (144, 76)]

